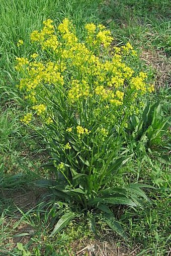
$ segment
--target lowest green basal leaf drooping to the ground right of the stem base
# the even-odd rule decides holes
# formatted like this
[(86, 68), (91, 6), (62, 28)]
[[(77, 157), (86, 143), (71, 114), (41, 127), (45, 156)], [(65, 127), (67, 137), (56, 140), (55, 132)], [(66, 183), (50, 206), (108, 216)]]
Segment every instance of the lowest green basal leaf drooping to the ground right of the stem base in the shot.
[(128, 240), (128, 237), (125, 234), (122, 226), (120, 225), (119, 221), (117, 221), (115, 219), (115, 217), (113, 215), (105, 214), (105, 215), (103, 215), (103, 220), (109, 225), (110, 228), (112, 228), (114, 231), (116, 231), (125, 240)]

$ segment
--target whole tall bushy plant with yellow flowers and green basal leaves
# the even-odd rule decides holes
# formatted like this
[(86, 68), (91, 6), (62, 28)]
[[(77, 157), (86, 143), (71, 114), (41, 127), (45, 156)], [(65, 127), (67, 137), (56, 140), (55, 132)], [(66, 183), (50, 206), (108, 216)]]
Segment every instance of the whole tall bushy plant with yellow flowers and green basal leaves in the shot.
[[(51, 20), (43, 24), (31, 34), (37, 52), (29, 59), (17, 58), (16, 69), (30, 110), (22, 121), (42, 122), (53, 158), (49, 168), (56, 180), (39, 185), (52, 186), (70, 207), (52, 234), (74, 218), (75, 209), (102, 214), (123, 234), (112, 206), (135, 207), (139, 196), (146, 197), (140, 185), (113, 186), (119, 168), (131, 157), (121, 147), (122, 133), (153, 86), (144, 72), (126, 64), (136, 55), (130, 43), (112, 47), (111, 32), (103, 25), (85, 25), (79, 39), (68, 19), (56, 30)], [(93, 217), (91, 221), (95, 226)]]

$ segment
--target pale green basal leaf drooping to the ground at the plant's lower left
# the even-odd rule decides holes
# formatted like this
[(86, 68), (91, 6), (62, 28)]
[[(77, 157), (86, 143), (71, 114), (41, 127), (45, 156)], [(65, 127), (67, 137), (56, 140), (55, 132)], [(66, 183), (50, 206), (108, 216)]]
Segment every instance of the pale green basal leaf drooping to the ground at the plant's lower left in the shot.
[(62, 228), (64, 228), (73, 218), (75, 217), (75, 214), (73, 212), (67, 212), (65, 213), (56, 223), (53, 231), (50, 234), (50, 237), (52, 237), (54, 234), (58, 233)]

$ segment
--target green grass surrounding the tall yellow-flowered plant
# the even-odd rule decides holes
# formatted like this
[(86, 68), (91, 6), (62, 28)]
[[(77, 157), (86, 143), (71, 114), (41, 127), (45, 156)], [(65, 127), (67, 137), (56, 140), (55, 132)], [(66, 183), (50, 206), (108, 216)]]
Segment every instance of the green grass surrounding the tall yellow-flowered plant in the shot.
[[(33, 181), (51, 175), (40, 167), (49, 152), (41, 138), (20, 123), (25, 103), (15, 87), (18, 77), (14, 66), (16, 56), (34, 52), (29, 34), (39, 29), (43, 20), (51, 18), (58, 23), (68, 17), (79, 28), (80, 35), (85, 23), (101, 22), (112, 30), (115, 45), (130, 41), (139, 51), (139, 65), (150, 70), (151, 79), (156, 80), (156, 94), (151, 101), (160, 99), (167, 117), (171, 113), (170, 2), (2, 0), (0, 10), (0, 255), (107, 255), (107, 251), (109, 255), (169, 255), (170, 147), (166, 148), (166, 160), (162, 158), (163, 151), (153, 152), (151, 160), (149, 154), (141, 152), (139, 159), (126, 167), (126, 181), (122, 176), (118, 181), (138, 179), (155, 187), (147, 191), (151, 203), (143, 209), (118, 211), (129, 242), (113, 233), (103, 221), (98, 224), (101, 240), (97, 240), (83, 218), (54, 238), (49, 237), (55, 224), (52, 217), (64, 206), (55, 201), (48, 204), (48, 198), (42, 196), (47, 191), (33, 189)], [(25, 46), (19, 49), (20, 39)], [(23, 244), (25, 252), (16, 246), (17, 242)]]

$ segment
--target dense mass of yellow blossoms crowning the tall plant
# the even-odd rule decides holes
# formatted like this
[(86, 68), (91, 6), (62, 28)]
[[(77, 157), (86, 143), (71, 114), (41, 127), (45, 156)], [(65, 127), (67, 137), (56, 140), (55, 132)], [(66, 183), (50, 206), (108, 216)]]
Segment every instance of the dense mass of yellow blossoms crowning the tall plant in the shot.
[[(25, 98), (38, 115), (46, 111), (47, 99), (51, 102), (58, 95), (65, 97), (67, 106), (72, 108), (92, 101), (95, 105), (103, 103), (106, 109), (119, 109), (127, 103), (130, 93), (132, 104), (136, 105), (138, 97), (154, 90), (146, 83), (144, 72), (135, 75), (125, 63), (125, 56), (133, 54), (130, 43), (109, 52), (113, 38), (105, 26), (90, 23), (85, 30), (87, 37), (80, 41), (68, 19), (58, 25), (57, 31), (51, 20), (44, 21), (42, 30), (31, 34), (40, 53), (33, 53), (31, 60), (17, 58), (16, 69), (24, 74), (18, 87), (25, 91)], [(78, 134), (88, 132), (81, 126), (76, 130)], [(66, 131), (71, 132), (72, 128)]]

